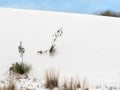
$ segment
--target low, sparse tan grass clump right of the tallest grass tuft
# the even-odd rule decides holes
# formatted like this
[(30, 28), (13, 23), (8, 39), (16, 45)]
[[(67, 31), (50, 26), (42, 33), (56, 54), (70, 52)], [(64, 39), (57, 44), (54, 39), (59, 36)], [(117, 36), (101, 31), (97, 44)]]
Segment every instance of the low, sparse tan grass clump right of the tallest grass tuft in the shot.
[(81, 83), (79, 79), (71, 78), (70, 80), (64, 80), (62, 90), (76, 90), (81, 88)]

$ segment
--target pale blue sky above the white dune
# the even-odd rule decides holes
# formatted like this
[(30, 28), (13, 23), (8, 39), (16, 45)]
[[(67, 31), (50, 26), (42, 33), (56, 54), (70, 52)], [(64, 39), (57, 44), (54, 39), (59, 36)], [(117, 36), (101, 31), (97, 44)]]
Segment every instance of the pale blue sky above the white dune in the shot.
[(0, 0), (0, 7), (93, 14), (120, 12), (120, 0)]

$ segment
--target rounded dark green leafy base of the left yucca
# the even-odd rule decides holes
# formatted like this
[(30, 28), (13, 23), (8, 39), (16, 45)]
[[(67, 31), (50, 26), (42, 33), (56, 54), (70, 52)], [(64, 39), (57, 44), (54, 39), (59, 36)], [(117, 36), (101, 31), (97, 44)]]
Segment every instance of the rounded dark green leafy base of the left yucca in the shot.
[(18, 74), (27, 74), (31, 70), (31, 66), (25, 63), (18, 63), (12, 64), (10, 67), (10, 71), (13, 71)]

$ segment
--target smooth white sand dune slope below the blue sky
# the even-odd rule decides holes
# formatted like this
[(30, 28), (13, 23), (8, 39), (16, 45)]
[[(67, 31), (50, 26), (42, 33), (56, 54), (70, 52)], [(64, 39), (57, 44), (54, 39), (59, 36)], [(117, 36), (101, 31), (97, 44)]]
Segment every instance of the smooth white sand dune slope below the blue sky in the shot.
[[(48, 49), (52, 35), (61, 27), (64, 33), (56, 43), (57, 54), (39, 55), (37, 51)], [(96, 83), (120, 81), (119, 18), (0, 8), (1, 79), (12, 63), (20, 61), (19, 41), (34, 77), (53, 67), (62, 77), (80, 76)]]

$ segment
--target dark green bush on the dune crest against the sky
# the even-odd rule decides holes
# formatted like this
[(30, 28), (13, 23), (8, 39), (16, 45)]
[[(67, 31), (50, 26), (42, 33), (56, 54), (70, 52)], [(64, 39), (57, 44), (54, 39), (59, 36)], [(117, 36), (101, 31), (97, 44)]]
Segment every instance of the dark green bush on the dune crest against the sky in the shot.
[(98, 15), (111, 16), (111, 17), (120, 17), (119, 12), (115, 12), (115, 11), (112, 11), (112, 10), (105, 10), (103, 12), (100, 12)]

